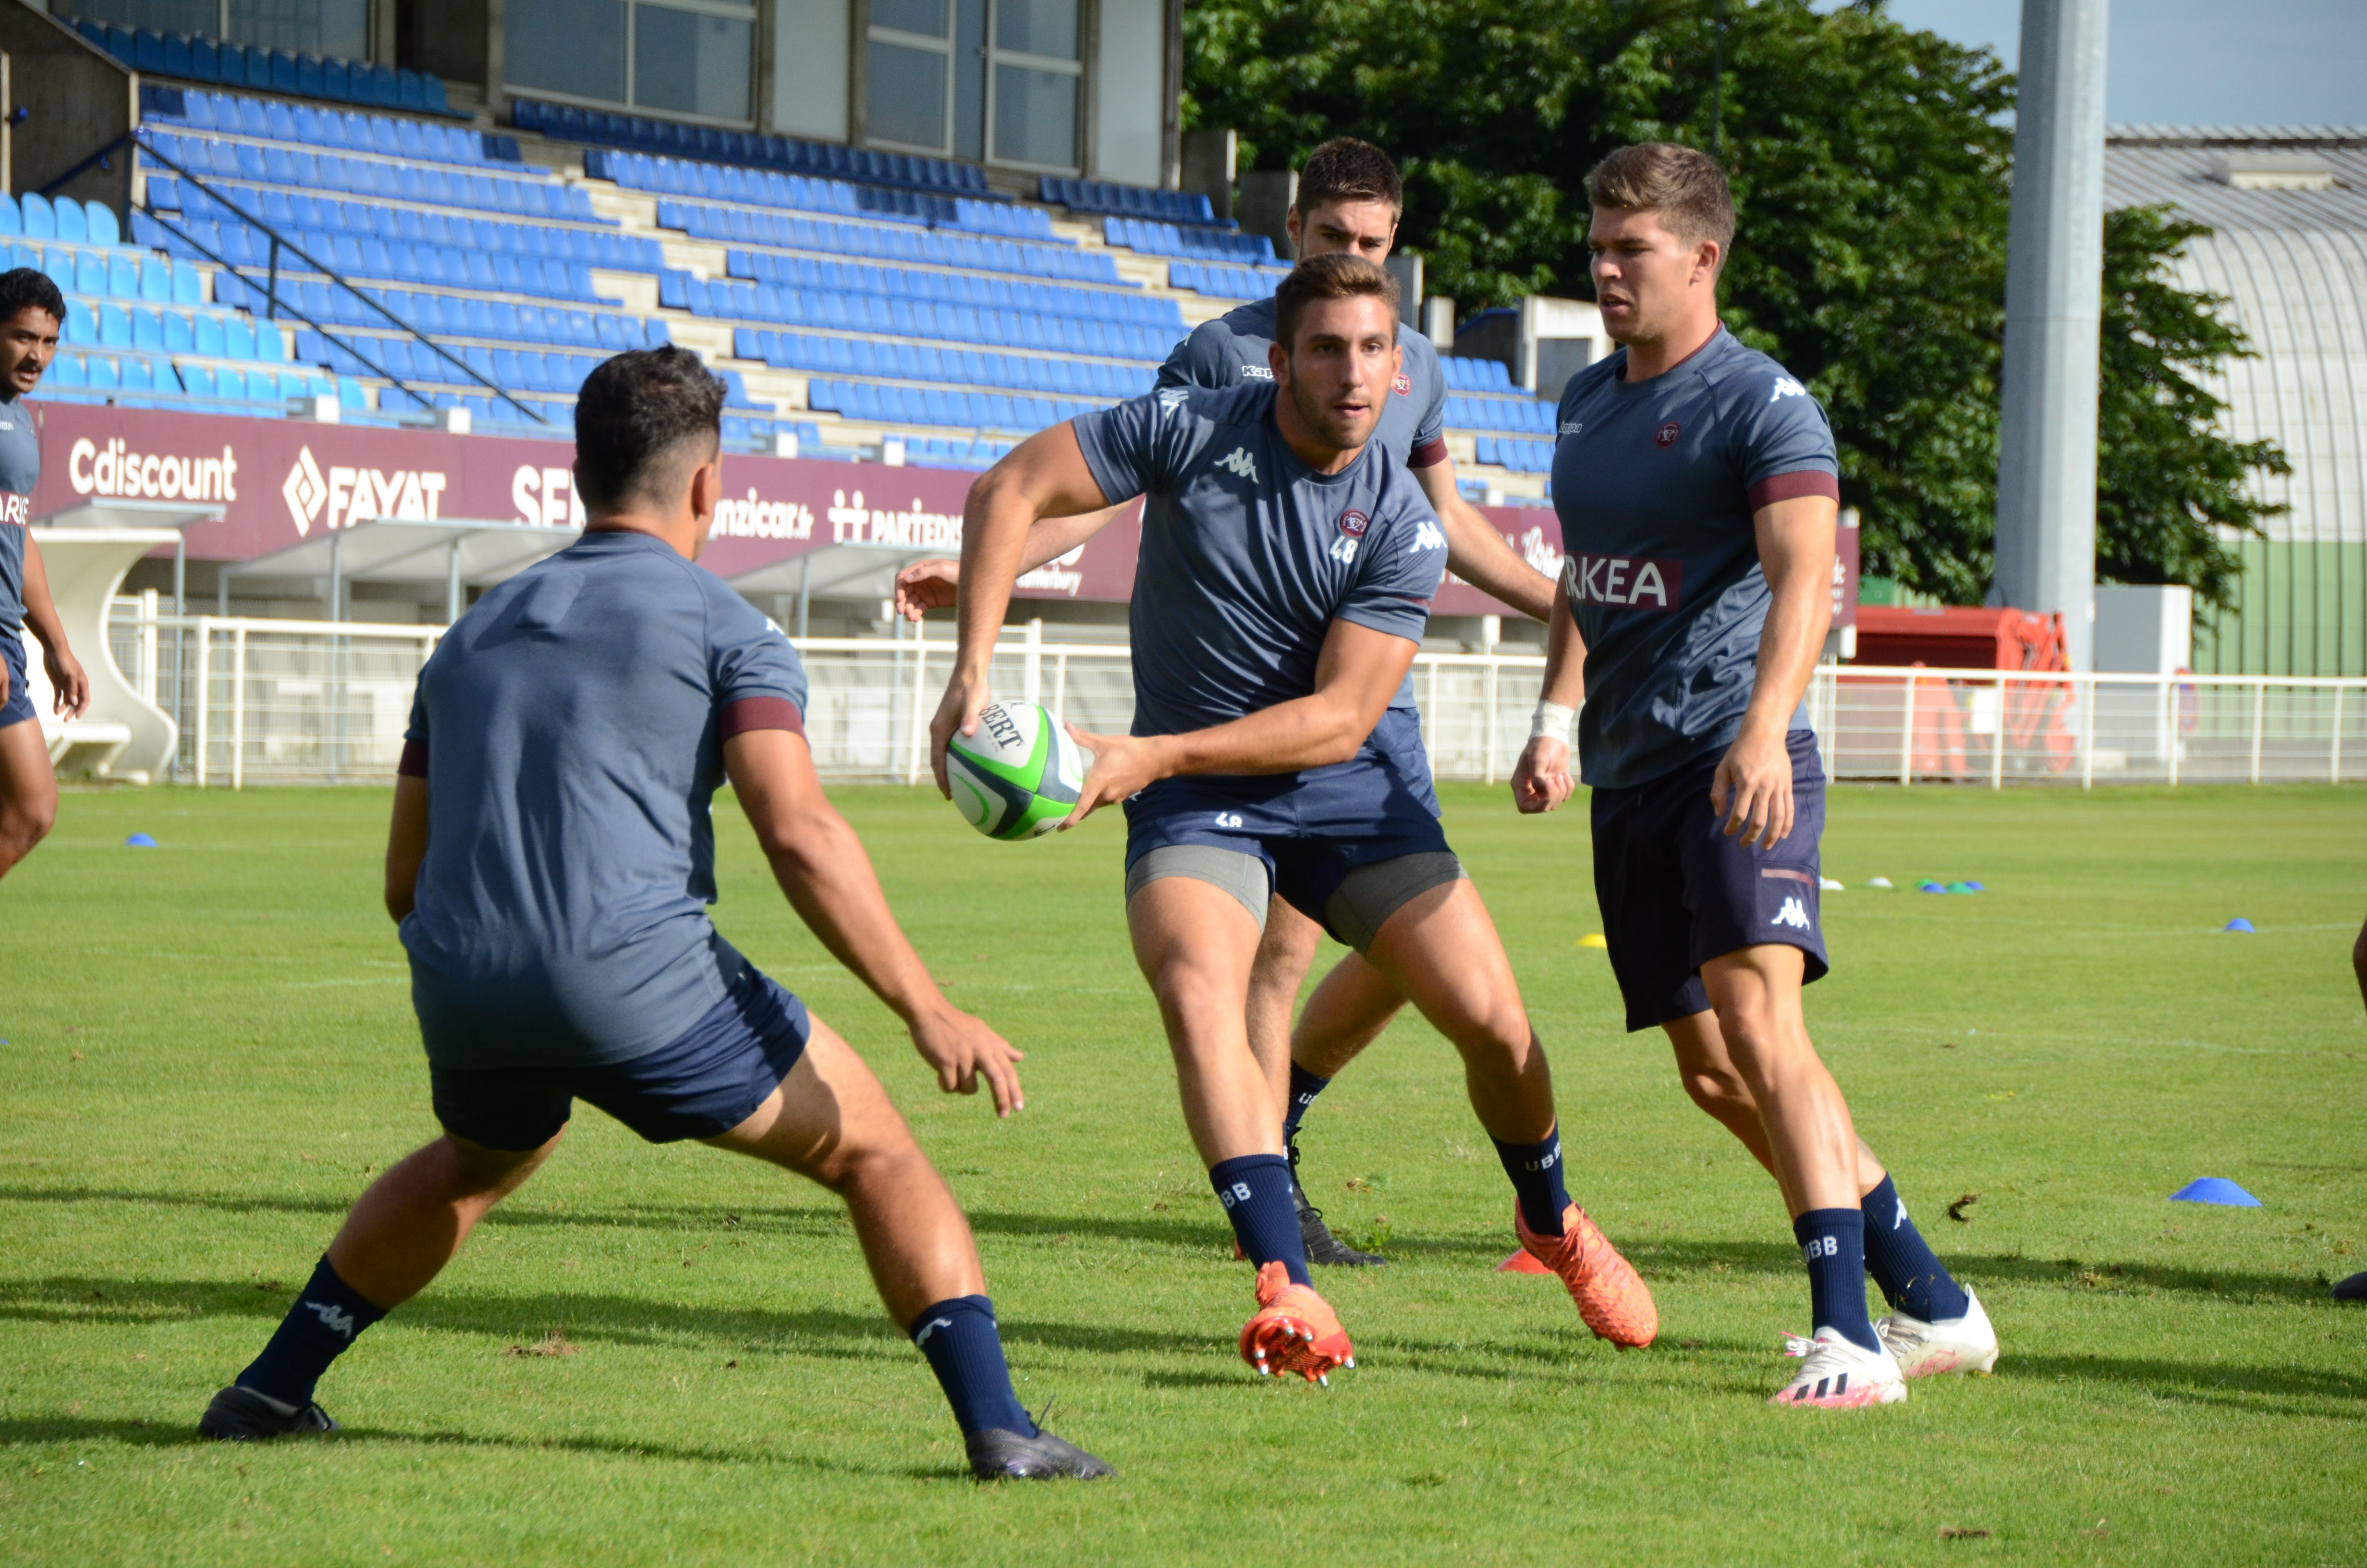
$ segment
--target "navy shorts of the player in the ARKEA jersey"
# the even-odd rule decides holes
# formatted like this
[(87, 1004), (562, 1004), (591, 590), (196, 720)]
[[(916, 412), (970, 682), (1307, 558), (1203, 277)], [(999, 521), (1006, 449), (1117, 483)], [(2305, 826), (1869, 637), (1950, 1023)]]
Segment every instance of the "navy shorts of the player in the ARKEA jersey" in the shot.
[(1808, 955), (1808, 981), (1830, 969), (1815, 898), (1825, 767), (1808, 730), (1794, 730), (1785, 746), (1792, 834), (1773, 850), (1728, 838), (1726, 822), (1709, 810), (1723, 746), (1647, 784), (1593, 793), (1595, 902), (1628, 1030), (1709, 1011), (1702, 964), (1742, 947), (1799, 947)]

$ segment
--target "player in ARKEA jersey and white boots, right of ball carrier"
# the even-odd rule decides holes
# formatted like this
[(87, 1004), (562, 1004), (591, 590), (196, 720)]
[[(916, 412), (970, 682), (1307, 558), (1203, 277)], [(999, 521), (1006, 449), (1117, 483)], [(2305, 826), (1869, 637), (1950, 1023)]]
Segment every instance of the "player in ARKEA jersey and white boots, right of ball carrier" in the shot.
[[(1569, 796), (1569, 708), (1593, 786), (1595, 898), (1628, 1030), (1659, 1026), (1692, 1099), (1782, 1189), (1813, 1338), (1778, 1405), (1905, 1397), (1988, 1371), (1998, 1338), (1924, 1246), (1808, 1040), (1825, 973), (1825, 775), (1801, 694), (1832, 618), (1839, 462), (1815, 398), (1718, 322), (1735, 208), (1666, 142), (1591, 175), (1595, 301), (1621, 343), (1562, 393), (1560, 604), (1513, 775), (1524, 812)], [(1865, 1274), (1891, 1303), (1865, 1315)]]

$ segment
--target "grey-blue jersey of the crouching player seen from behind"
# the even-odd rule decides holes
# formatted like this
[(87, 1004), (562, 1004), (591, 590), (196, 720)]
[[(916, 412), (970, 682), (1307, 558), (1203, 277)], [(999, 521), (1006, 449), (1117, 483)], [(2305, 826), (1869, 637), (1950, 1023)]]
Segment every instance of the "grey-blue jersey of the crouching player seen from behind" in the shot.
[(646, 533), (478, 599), (419, 670), (402, 758), (428, 782), (402, 919), (428, 1059), (632, 1061), (722, 1002), (746, 969), (705, 912), (722, 744), (802, 708), (788, 640)]

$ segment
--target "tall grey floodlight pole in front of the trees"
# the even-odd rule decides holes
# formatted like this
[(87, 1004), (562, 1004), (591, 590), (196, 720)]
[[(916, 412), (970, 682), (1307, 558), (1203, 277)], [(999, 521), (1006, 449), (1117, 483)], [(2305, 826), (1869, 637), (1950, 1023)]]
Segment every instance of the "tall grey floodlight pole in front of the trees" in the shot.
[(2107, 0), (2021, 0), (1991, 602), (2057, 613), (2095, 668)]

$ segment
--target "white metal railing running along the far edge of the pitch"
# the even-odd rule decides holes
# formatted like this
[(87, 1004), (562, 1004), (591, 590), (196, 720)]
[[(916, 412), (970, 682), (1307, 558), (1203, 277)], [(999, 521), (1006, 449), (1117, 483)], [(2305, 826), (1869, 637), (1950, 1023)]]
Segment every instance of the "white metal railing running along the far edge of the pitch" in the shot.
[[(151, 616), (118, 602), (116, 663), (182, 727), (194, 784), (393, 777), (419, 666), (443, 628)], [(918, 784), (952, 640), (800, 637), (805, 732), (831, 779)], [(1529, 737), (1543, 658), (1420, 654), (1413, 694), (1442, 779), (1496, 782)], [(1124, 644), (1011, 628), (994, 689), (1096, 732), (1134, 718)], [(1808, 689), (1825, 767), (1896, 784), (2291, 784), (2367, 779), (2367, 680), (2029, 675), (1823, 666)]]

